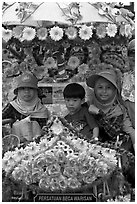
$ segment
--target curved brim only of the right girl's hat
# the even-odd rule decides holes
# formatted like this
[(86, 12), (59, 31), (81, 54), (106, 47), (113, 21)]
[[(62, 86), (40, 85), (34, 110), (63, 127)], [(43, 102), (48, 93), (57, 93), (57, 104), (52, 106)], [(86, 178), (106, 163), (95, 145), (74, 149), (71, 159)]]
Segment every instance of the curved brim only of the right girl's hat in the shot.
[[(100, 77), (102, 77), (102, 78), (104, 78), (104, 79), (107, 79), (109, 82), (111, 82), (111, 83), (118, 89), (118, 86), (117, 86), (117, 84), (116, 84), (115, 81), (110, 80), (110, 78), (107, 77), (107, 76), (102, 76), (102, 75), (98, 75), (98, 74), (94, 74), (94, 75), (90, 76), (90, 77), (86, 80), (87, 85), (88, 85), (89, 87), (91, 87), (92, 89), (94, 89), (94, 87), (95, 87), (95, 82), (96, 82)], [(119, 90), (119, 89), (118, 89), (118, 90)]]

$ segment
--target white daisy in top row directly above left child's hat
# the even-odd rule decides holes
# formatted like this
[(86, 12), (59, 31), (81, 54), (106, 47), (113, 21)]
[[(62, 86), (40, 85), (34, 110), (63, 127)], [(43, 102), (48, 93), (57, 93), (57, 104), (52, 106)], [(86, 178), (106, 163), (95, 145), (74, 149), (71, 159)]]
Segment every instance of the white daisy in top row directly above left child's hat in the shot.
[(26, 27), (23, 29), (23, 35), (21, 40), (31, 41), (35, 38), (36, 31), (34, 28)]

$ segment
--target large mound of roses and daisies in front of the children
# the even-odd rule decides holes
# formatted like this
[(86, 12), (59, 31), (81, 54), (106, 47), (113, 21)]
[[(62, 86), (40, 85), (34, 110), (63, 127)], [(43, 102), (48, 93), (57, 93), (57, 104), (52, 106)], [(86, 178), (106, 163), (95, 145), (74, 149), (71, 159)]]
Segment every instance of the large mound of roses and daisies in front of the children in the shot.
[(83, 139), (63, 118), (54, 116), (43, 131), (38, 142), (16, 147), (3, 156), (5, 176), (23, 188), (37, 193), (75, 192), (106, 184), (119, 171), (120, 155), (114, 147)]

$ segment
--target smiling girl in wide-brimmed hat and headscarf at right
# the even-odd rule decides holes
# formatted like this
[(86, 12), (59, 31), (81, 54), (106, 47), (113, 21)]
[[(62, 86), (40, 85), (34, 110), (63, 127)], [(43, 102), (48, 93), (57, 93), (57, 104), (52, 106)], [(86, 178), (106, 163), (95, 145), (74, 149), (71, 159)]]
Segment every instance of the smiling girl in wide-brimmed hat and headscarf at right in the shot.
[[(118, 78), (114, 70), (104, 70), (87, 78), (87, 85), (93, 89), (89, 111), (98, 122), (99, 138), (102, 142), (114, 142), (134, 153), (135, 130), (120, 95)], [(134, 186), (134, 163), (130, 162), (130, 158), (124, 157), (126, 158), (126, 155), (122, 157), (124, 175)]]

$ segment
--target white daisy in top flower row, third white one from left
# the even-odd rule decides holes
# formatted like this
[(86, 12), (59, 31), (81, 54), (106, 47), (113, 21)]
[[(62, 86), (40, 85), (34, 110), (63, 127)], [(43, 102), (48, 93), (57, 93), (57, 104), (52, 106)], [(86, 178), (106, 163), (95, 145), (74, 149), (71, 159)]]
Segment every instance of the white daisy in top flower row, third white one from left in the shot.
[(49, 31), (52, 40), (59, 41), (63, 37), (63, 29), (58, 26), (54, 26)]

